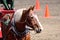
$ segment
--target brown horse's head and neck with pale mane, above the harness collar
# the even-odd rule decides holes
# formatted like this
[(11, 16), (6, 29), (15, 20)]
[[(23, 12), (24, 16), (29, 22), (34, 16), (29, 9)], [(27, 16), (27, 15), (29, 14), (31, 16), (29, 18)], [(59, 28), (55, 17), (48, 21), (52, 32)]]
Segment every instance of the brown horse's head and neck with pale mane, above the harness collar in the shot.
[(34, 8), (35, 6), (31, 6), (29, 9), (19, 9), (15, 12), (14, 20), (18, 29), (20, 29), (18, 25), (20, 25), (21, 29), (24, 28), (23, 26), (28, 25), (37, 33), (43, 30), (37, 15), (34, 14)]

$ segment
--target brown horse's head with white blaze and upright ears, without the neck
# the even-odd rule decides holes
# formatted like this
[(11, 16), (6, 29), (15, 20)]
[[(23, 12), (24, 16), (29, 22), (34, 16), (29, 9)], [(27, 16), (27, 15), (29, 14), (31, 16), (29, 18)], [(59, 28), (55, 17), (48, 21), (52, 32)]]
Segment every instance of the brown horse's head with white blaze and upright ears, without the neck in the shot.
[(28, 16), (26, 19), (26, 24), (33, 28), (37, 33), (43, 30), (41, 23), (39, 22), (38, 16), (34, 14), (34, 6), (28, 9)]

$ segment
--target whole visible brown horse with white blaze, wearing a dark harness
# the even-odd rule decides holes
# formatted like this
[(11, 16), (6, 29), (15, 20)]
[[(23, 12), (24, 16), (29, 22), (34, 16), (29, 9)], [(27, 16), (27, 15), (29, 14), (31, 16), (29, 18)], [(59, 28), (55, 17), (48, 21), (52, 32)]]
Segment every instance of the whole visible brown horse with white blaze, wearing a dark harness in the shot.
[(18, 9), (9, 25), (7, 27), (3, 23), (2, 25), (3, 40), (31, 40), (30, 30), (27, 27), (36, 33), (41, 33), (43, 30), (38, 16), (34, 14), (34, 6)]

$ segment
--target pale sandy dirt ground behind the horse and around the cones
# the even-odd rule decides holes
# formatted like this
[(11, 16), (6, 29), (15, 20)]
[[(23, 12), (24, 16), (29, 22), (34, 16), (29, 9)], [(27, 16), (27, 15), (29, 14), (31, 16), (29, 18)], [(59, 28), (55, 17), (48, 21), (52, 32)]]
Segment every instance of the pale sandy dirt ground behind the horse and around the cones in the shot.
[[(15, 0), (15, 9), (35, 5), (36, 0)], [(40, 11), (36, 12), (44, 30), (36, 34), (31, 31), (31, 40), (60, 40), (60, 0), (39, 0)], [(49, 6), (51, 17), (44, 18), (45, 6)]]

